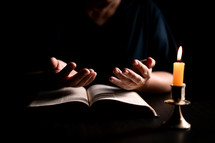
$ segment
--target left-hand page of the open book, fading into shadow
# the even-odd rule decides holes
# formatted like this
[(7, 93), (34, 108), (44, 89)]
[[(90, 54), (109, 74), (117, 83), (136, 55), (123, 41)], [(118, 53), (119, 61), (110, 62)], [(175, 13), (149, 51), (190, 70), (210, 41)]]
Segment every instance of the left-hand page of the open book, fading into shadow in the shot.
[(72, 101), (83, 102), (89, 105), (86, 89), (84, 87), (64, 87), (55, 90), (40, 91), (29, 106), (48, 106)]

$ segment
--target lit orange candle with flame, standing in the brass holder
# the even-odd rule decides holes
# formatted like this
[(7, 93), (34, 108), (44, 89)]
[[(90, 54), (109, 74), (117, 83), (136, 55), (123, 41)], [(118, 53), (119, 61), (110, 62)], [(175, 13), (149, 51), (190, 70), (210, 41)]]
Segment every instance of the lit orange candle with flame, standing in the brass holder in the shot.
[(181, 62), (181, 57), (182, 46), (178, 49), (177, 62), (173, 63), (173, 86), (183, 86), (185, 63)]

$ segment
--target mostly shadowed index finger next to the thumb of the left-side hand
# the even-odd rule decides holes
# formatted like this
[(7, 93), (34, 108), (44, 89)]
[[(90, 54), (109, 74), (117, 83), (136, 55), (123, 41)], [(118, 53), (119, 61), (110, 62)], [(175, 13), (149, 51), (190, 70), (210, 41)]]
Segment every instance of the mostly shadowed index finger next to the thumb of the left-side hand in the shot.
[(74, 62), (69, 62), (59, 73), (59, 78), (67, 78), (70, 72), (72, 72), (76, 68), (76, 64)]

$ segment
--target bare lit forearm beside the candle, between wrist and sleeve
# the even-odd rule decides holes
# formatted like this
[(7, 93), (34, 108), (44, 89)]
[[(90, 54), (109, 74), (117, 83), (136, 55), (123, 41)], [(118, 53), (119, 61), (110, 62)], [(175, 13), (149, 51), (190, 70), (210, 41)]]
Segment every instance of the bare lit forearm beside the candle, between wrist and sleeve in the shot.
[(146, 82), (141, 92), (165, 93), (171, 91), (172, 74), (164, 71), (152, 72), (150, 79)]

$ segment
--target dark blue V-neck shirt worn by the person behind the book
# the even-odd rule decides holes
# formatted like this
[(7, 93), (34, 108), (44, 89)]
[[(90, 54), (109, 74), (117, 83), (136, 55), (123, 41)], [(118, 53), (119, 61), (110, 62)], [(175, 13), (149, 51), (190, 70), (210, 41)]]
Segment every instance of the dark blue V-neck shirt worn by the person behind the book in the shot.
[[(150, 0), (122, 0), (115, 15), (98, 26), (78, 4), (59, 4), (47, 28), (44, 56), (92, 68), (108, 81), (114, 67), (130, 67), (134, 59), (152, 57), (153, 70), (172, 72), (176, 44), (161, 11)], [(46, 29), (47, 30), (47, 29)], [(42, 33), (41, 33), (42, 34)], [(43, 49), (43, 50), (44, 50)]]

